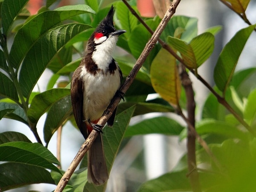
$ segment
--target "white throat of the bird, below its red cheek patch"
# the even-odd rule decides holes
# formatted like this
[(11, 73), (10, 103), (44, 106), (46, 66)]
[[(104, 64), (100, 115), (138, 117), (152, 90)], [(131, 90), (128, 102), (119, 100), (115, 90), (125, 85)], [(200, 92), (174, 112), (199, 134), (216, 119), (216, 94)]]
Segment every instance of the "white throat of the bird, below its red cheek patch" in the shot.
[[(101, 44), (96, 45), (93, 52), (92, 59), (98, 65), (98, 68), (106, 72), (108, 66), (112, 61), (112, 52), (116, 47), (118, 35), (111, 36), (103, 41)], [(96, 43), (96, 39), (94, 42)]]

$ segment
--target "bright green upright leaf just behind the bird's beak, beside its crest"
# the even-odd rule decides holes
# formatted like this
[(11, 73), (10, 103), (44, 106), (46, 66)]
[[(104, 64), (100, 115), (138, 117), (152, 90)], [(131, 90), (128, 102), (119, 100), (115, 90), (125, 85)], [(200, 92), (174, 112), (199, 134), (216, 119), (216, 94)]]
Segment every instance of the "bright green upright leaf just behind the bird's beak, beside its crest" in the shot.
[[(137, 10), (136, 7), (133, 9)], [(125, 37), (130, 38), (131, 32), (138, 24), (137, 18), (130, 12), (123, 2), (116, 3), (116, 17), (119, 22), (117, 23), (120, 29), (125, 29)], [(139, 40), (139, 39), (137, 39)]]

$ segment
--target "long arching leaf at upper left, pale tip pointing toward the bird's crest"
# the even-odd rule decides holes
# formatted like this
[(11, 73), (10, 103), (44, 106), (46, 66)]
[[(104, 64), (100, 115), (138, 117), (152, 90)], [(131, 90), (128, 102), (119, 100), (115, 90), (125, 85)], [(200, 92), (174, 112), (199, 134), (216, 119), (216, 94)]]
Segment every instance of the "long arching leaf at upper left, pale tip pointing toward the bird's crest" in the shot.
[[(35, 46), (35, 43), (40, 41), (46, 33), (49, 33), (49, 29), (52, 29), (63, 20), (82, 13), (94, 13), (94, 11), (87, 5), (64, 6), (55, 9), (54, 11), (42, 12), (26, 22), (15, 35), (10, 50), (12, 66), (18, 68), (29, 50), (32, 49), (32, 47)], [(64, 40), (64, 37), (61, 38)], [(56, 42), (55, 39), (52, 39), (52, 41)], [(44, 47), (44, 49), (48, 50), (48, 47)]]

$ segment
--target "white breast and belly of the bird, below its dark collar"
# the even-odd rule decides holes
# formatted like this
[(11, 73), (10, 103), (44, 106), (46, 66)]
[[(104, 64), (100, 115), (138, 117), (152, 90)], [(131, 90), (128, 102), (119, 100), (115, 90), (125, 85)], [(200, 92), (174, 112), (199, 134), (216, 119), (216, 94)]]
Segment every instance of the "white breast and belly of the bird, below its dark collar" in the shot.
[(81, 76), (84, 81), (83, 111), (85, 120), (99, 119), (120, 87), (118, 69), (114, 74), (100, 72), (93, 75), (88, 73), (85, 67), (82, 67)]

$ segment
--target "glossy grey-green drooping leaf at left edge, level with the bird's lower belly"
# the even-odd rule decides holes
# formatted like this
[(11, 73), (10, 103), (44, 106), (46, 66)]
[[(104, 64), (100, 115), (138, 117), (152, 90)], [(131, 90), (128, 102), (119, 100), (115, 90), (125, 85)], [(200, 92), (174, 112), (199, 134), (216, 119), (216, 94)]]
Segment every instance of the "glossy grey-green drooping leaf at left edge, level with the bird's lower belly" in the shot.
[(6, 118), (9, 119), (15, 119), (17, 121), (23, 122), (26, 125), (29, 125), (27, 116), (22, 108), (20, 108), (19, 105), (16, 103), (5, 103), (5, 102), (0, 102), (0, 110), (3, 109), (15, 109), (12, 113), (8, 113), (5, 115)]

